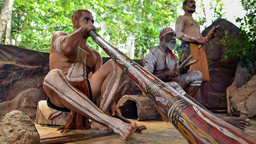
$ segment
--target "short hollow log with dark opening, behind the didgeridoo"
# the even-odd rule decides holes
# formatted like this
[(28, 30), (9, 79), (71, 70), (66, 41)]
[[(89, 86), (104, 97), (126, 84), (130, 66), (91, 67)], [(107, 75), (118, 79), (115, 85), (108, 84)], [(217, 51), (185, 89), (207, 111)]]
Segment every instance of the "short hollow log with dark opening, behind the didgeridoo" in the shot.
[(161, 115), (155, 108), (154, 102), (144, 95), (124, 95), (117, 103), (117, 107), (126, 118), (137, 121), (158, 119)]

